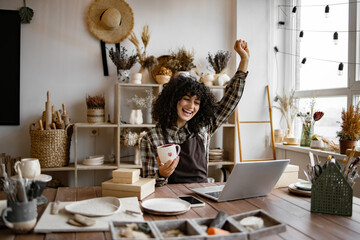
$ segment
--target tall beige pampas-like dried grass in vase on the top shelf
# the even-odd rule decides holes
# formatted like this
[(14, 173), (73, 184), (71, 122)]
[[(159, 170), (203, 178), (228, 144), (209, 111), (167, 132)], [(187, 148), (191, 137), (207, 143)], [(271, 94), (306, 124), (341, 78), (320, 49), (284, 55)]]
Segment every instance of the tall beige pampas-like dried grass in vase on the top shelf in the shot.
[(139, 73), (142, 74), (142, 82), (149, 83), (150, 74), (149, 71), (157, 64), (157, 60), (154, 56), (148, 56), (146, 49), (150, 41), (150, 32), (149, 26), (145, 25), (141, 33), (141, 41), (144, 45), (143, 48), (140, 47), (139, 39), (136, 37), (134, 32), (131, 32), (129, 41), (132, 42), (136, 48), (137, 56), (139, 58), (139, 63), (141, 65)]

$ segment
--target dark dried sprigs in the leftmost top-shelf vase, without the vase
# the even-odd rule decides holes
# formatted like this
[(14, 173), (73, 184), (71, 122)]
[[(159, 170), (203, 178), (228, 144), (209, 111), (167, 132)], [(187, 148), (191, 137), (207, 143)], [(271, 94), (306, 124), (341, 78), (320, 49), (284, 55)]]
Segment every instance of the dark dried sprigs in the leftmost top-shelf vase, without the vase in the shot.
[(129, 70), (137, 62), (137, 54), (127, 55), (127, 50), (124, 46), (121, 46), (120, 49), (114, 51), (113, 48), (109, 50), (109, 57), (112, 62), (115, 64), (117, 70)]

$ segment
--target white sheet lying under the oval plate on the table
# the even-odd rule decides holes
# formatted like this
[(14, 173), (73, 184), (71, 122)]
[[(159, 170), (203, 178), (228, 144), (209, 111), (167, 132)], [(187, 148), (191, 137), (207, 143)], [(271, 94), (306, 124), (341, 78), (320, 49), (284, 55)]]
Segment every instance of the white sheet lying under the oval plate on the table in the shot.
[(90, 231), (109, 231), (109, 222), (112, 220), (116, 221), (144, 221), (143, 216), (140, 215), (129, 215), (126, 214), (126, 210), (133, 210), (141, 212), (139, 201), (136, 197), (119, 198), (120, 199), (120, 211), (116, 214), (105, 216), (105, 217), (92, 217), (96, 220), (96, 224), (89, 227), (76, 227), (72, 226), (67, 220), (72, 217), (71, 213), (65, 210), (67, 204), (73, 202), (60, 202), (60, 211), (57, 215), (50, 213), (52, 203), (49, 203), (37, 223), (34, 232), (37, 233), (50, 233), (50, 232), (90, 232)]

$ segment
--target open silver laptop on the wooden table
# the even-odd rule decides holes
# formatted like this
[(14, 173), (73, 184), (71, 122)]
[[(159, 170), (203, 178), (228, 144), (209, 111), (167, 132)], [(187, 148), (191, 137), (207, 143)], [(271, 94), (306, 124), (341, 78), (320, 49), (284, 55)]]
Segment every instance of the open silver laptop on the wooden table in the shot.
[(289, 162), (284, 159), (237, 163), (225, 185), (191, 190), (218, 202), (265, 196), (274, 188)]

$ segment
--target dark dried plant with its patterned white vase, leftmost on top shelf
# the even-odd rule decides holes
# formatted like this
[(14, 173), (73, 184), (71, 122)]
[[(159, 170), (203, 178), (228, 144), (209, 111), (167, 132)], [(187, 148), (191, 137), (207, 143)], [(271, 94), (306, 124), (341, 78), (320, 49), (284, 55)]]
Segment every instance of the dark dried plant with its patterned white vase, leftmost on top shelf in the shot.
[(114, 51), (113, 48), (109, 50), (109, 57), (116, 66), (118, 82), (128, 83), (130, 80), (130, 68), (137, 62), (137, 54), (128, 55), (124, 46)]

